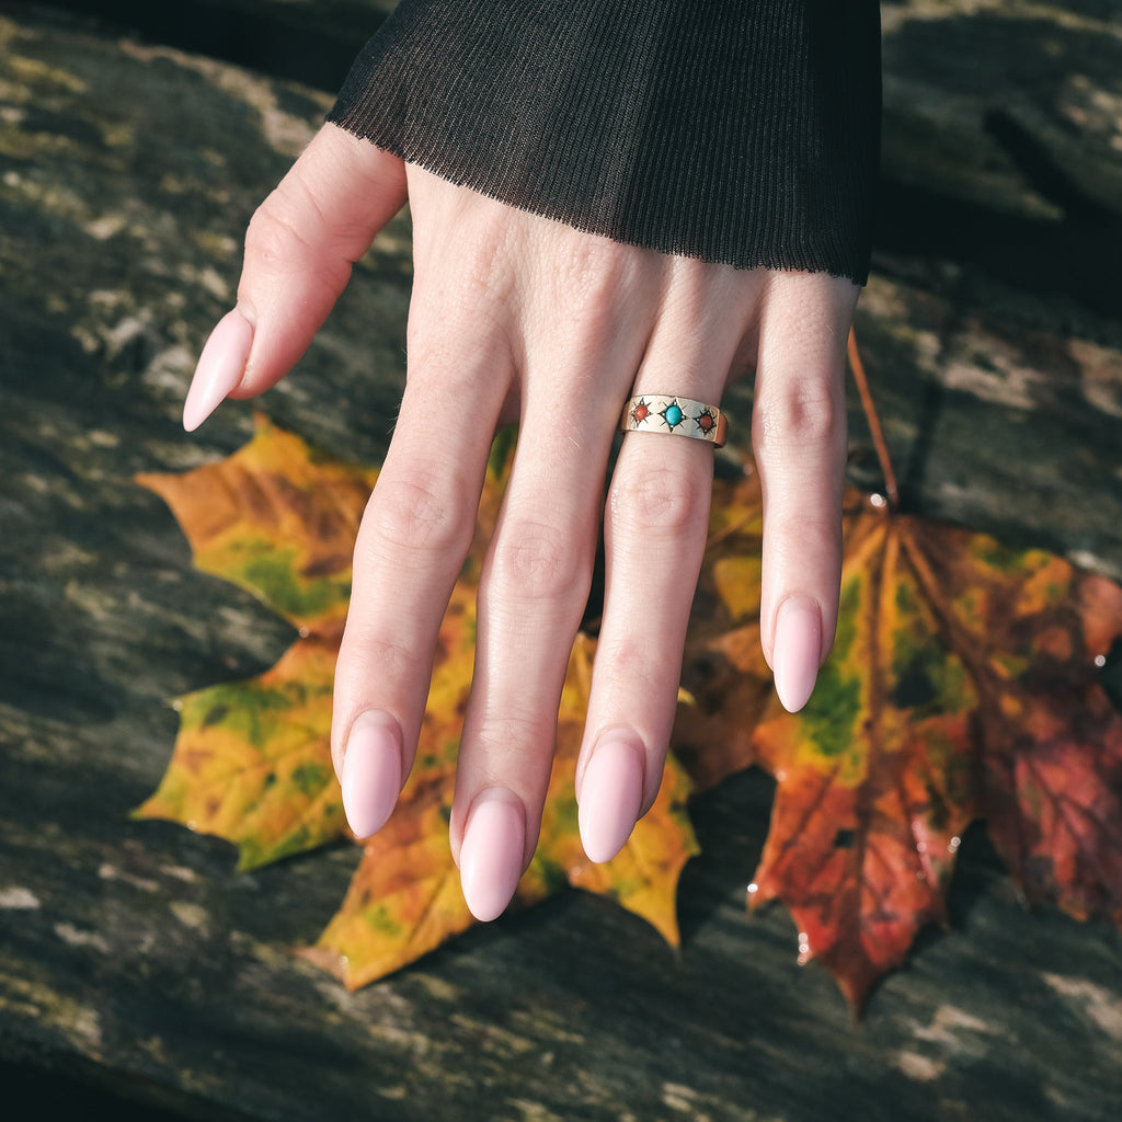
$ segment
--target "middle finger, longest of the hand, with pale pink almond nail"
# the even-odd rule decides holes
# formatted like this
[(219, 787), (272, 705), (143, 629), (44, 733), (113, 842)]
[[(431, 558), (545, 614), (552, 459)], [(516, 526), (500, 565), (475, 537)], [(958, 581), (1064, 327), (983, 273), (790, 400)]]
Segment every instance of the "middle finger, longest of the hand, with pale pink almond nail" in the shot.
[(452, 810), (472, 913), (509, 902), (536, 844), (557, 714), (588, 601), (611, 417), (535, 424), (526, 396), (478, 598), (476, 665)]

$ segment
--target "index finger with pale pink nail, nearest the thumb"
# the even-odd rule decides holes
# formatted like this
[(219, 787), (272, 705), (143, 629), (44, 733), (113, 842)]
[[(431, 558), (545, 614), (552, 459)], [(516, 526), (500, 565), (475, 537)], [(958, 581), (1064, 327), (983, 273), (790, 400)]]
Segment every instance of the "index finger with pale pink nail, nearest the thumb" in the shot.
[(332, 760), (359, 837), (389, 818), (413, 765), (433, 652), (475, 532), (490, 433), (509, 379), (497, 344), (479, 344), (475, 364), (441, 344), (443, 327), (450, 339), (467, 328), (432, 314), (416, 292), (411, 316), (436, 340), (410, 347), (394, 438), (356, 542), (335, 669)]

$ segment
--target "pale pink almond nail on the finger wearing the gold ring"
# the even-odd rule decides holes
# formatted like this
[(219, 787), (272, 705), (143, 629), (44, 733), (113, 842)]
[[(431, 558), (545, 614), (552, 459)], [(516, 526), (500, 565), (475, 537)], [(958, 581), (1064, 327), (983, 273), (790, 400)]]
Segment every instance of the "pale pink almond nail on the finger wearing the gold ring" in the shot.
[(580, 785), (580, 840), (588, 859), (611, 861), (627, 844), (643, 808), (641, 749), (615, 737), (596, 745)]

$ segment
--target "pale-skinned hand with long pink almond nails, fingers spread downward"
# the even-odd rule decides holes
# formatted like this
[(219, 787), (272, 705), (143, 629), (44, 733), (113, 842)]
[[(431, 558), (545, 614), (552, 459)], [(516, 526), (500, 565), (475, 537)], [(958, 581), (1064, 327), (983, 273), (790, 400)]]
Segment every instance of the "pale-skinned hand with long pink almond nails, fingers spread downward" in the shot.
[(632, 394), (718, 405), (733, 379), (755, 371), (761, 637), (780, 699), (791, 710), (808, 700), (837, 620), (844, 361), (858, 289), (824, 273), (733, 269), (582, 233), (328, 125), (250, 223), (237, 307), (200, 358), (188, 430), (224, 397), (251, 397), (284, 377), (352, 263), (406, 199), (407, 378), (355, 551), (331, 749), (351, 828), (369, 836), (413, 763), (491, 436), (518, 420), (479, 588), (450, 825), (467, 903), (489, 920), (533, 856), (601, 523), (605, 607), (577, 767), (589, 857), (610, 859), (657, 793), (714, 452), (701, 441), (629, 433), (604, 504)]

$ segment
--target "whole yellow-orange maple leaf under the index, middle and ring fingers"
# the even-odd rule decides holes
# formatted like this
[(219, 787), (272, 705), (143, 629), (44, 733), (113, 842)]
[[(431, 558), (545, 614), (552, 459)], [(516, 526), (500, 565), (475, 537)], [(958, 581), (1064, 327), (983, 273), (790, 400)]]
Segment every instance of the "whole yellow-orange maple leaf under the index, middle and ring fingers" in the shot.
[[(448, 843), (460, 727), (471, 684), (475, 590), (513, 454), (496, 440), (468, 558), (438, 641), (416, 764), (389, 822), (364, 846), (347, 898), (304, 954), (356, 987), (413, 962), (475, 922)], [(269, 671), (180, 699), (180, 734), (157, 791), (136, 812), (239, 847), (252, 867), (347, 834), (331, 767), (331, 684), (350, 595), (358, 523), (377, 472), (311, 451), (258, 419), (243, 449), (184, 476), (139, 481), (172, 507), (194, 563), (238, 583), (300, 629)], [(668, 764), (659, 797), (606, 865), (583, 855), (573, 790), (592, 642), (578, 636), (558, 726), (542, 835), (518, 886), (533, 903), (570, 883), (610, 896), (677, 945), (678, 876), (697, 852), (689, 782)]]

